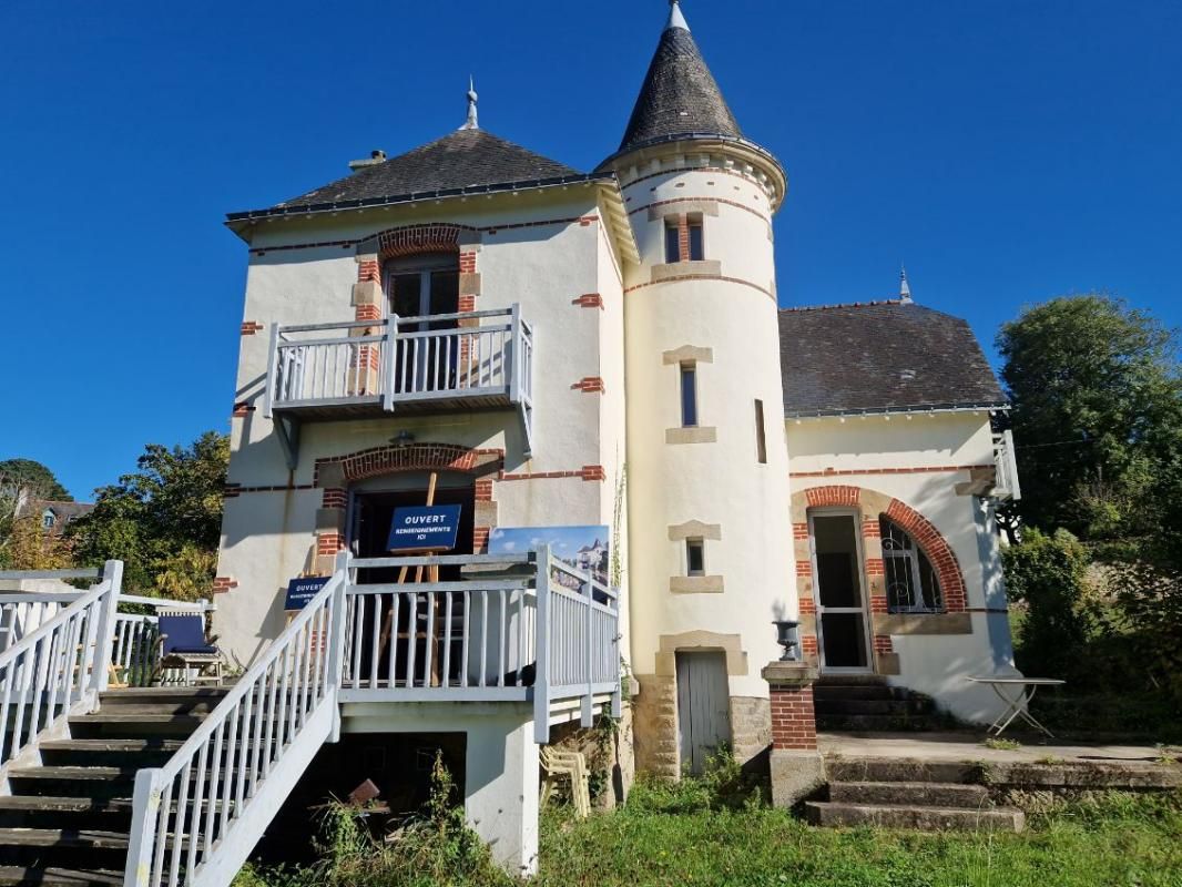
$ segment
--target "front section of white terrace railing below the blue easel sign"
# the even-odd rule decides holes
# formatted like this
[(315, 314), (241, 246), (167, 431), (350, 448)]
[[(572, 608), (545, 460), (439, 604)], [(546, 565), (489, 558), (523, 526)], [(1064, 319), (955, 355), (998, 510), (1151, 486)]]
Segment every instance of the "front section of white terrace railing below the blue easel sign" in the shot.
[[(524, 695), (535, 671), (537, 593), (527, 555), (350, 561), (351, 570), (479, 565), (496, 578), (350, 583), (342, 687), (390, 699)], [(505, 577), (517, 570), (519, 575)], [(499, 693), (505, 688), (515, 692)], [(372, 694), (371, 694), (372, 695)]]

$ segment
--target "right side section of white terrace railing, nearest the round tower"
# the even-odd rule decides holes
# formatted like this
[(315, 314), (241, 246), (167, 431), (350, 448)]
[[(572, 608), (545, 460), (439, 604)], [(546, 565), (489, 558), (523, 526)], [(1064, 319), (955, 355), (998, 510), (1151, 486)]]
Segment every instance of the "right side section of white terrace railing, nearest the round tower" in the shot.
[(538, 679), (533, 688), (534, 738), (550, 742), (551, 703), (580, 701), (580, 720), (592, 726), (596, 697), (611, 697), (621, 714), (619, 598), (615, 589), (551, 555), (535, 552), (538, 580)]

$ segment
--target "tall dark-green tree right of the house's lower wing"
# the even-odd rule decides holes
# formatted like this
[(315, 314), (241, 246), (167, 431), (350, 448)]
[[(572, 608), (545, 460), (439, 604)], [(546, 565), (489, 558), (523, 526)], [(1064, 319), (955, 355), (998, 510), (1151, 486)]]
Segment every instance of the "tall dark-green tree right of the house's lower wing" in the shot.
[(996, 344), (1024, 522), (1091, 543), (1164, 543), (1162, 493), (1182, 486), (1174, 331), (1121, 299), (1071, 296), (1026, 309)]

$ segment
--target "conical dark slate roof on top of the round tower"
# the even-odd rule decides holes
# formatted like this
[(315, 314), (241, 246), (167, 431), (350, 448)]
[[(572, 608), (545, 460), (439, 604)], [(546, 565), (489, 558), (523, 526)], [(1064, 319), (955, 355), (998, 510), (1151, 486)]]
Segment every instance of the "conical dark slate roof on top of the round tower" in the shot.
[(742, 138), (693, 34), (670, 22), (661, 34), (619, 151), (678, 135)]

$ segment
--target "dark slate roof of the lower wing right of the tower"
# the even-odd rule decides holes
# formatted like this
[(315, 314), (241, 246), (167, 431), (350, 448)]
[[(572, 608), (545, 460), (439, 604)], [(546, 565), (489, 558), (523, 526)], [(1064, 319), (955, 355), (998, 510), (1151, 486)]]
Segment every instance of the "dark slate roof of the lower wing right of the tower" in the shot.
[(780, 311), (780, 370), (790, 417), (1006, 403), (965, 321), (900, 300)]

